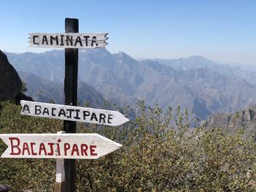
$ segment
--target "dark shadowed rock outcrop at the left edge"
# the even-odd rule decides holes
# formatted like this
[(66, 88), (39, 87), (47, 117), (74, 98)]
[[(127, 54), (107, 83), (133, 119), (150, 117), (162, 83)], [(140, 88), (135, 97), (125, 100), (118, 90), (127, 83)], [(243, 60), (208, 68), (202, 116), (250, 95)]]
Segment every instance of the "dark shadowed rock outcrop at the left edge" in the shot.
[(15, 100), (21, 85), (18, 73), (0, 50), (0, 101)]

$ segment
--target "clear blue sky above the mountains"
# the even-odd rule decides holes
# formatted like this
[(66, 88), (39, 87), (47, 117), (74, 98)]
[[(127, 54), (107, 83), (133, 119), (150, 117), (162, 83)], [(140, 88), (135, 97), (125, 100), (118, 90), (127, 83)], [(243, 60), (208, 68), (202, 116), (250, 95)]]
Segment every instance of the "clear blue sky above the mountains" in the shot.
[(29, 47), (28, 33), (61, 33), (65, 18), (78, 18), (81, 33), (109, 32), (110, 53), (256, 65), (254, 0), (4, 0), (0, 9), (0, 49), (7, 52), (49, 50)]

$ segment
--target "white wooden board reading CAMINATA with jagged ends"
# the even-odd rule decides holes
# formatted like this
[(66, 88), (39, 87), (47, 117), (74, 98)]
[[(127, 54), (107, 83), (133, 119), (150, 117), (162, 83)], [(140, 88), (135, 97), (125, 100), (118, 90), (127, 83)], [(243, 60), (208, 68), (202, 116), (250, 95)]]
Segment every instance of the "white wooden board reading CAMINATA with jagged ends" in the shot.
[(98, 48), (108, 45), (105, 42), (108, 33), (102, 34), (29, 34), (29, 47), (54, 47), (54, 48)]

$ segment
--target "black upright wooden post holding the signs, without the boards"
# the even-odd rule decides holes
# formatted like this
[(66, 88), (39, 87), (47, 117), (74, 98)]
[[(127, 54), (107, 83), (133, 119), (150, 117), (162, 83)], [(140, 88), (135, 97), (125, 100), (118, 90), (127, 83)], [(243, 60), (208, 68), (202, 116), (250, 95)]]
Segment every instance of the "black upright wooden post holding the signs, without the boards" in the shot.
[[(78, 19), (65, 19), (65, 32), (78, 33)], [(78, 49), (65, 48), (65, 80), (64, 95), (65, 104), (77, 105), (78, 94)], [(76, 132), (76, 122), (64, 120), (66, 133)], [(64, 160), (66, 191), (75, 192), (75, 159)]]

